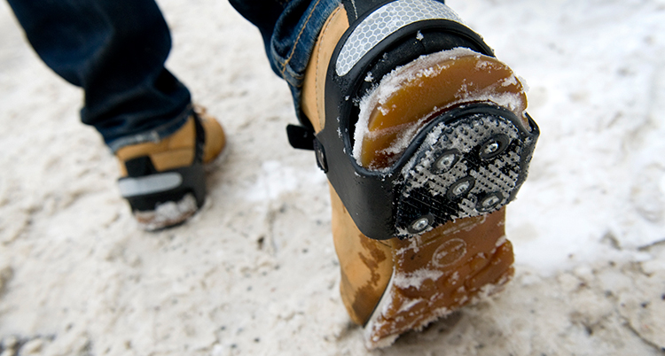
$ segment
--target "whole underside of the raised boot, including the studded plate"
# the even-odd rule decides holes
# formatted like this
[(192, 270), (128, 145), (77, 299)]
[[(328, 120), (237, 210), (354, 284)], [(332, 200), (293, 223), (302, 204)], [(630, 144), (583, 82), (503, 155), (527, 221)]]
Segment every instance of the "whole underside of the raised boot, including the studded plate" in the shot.
[[(365, 342), (370, 349), (392, 344), (403, 332), (422, 329), (496, 292), (513, 273), (512, 244), (505, 239), (503, 207), (523, 182), (537, 129), (529, 132), (525, 124), (530, 125), (530, 118), (516, 114), (526, 107), (520, 86), (509, 92), (497, 91), (507, 87), (503, 83), (513, 82), (510, 70), (497, 76), (499, 66), (504, 65), (495, 59), (479, 58), (464, 50), (455, 53), (456, 56), (437, 53), (419, 59), (426, 66), (397, 69), (395, 76), (411, 78), (410, 82), (395, 84), (392, 78), (381, 81), (368, 98), (370, 104), (365, 110), (378, 118), (361, 118), (362, 125), (369, 127), (365, 135), (373, 139), (364, 140), (361, 154), (356, 155), (366, 165), (390, 163), (381, 156), (382, 152), (391, 151), (396, 139), (386, 135), (382, 140), (376, 133), (389, 133), (391, 128), (404, 125), (419, 131), (412, 135), (409, 148), (398, 151), (401, 156), (397, 160), (407, 161), (398, 171), (396, 185), (399, 193), (395, 226), (396, 236), (401, 238), (390, 240), (392, 275), (365, 324)], [(465, 66), (456, 65), (460, 53), (470, 56)], [(474, 93), (469, 93), (466, 80), (452, 81), (452, 74), (446, 71), (434, 74), (435, 68), (448, 68), (453, 74), (471, 76), (469, 67), (485, 67), (488, 60), (492, 69), (475, 75), (496, 81), (497, 85), (489, 83)], [(437, 84), (436, 75), (446, 81)], [(398, 89), (388, 95), (380, 93), (383, 86)], [(435, 103), (419, 99), (424, 95), (423, 87), (437, 90), (439, 98), (434, 99)], [(459, 95), (462, 89), (465, 97)], [(484, 101), (500, 95), (513, 96), (515, 100), (508, 100), (513, 104), (512, 110)], [(420, 105), (424, 109), (411, 116), (398, 109), (392, 113), (384, 109), (400, 104), (417, 108)], [(428, 119), (427, 115), (420, 117), (422, 112), (434, 113)], [(356, 142), (358, 139), (356, 136)], [(375, 166), (379, 170), (386, 168)]]

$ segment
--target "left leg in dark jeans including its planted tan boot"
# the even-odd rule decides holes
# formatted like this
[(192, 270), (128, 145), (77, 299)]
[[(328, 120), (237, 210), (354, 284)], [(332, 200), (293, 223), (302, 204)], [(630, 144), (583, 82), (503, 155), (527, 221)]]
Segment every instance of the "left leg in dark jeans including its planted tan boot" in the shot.
[(119, 188), (142, 228), (185, 221), (206, 195), (202, 163), (223, 129), (164, 68), (171, 48), (154, 0), (9, 0), (44, 63), (85, 94), (82, 122), (119, 159)]

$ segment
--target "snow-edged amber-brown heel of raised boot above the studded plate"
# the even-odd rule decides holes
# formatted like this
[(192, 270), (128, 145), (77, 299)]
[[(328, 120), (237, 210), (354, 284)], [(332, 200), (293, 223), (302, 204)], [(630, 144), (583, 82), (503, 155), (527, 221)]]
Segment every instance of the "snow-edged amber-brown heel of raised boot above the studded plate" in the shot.
[[(381, 168), (395, 162), (403, 152), (389, 148), (403, 139), (404, 131), (424, 127), (464, 96), (510, 95), (514, 103), (512, 111), (528, 127), (524, 116), (527, 95), (512, 70), (497, 58), (467, 54), (441, 59), (426, 70), (410, 69), (410, 66), (395, 70), (396, 77), (406, 77), (391, 84), (400, 89), (382, 99), (370, 114), (369, 133), (364, 136), (363, 153), (359, 158), (361, 166)], [(433, 108), (438, 110), (433, 112)]]

